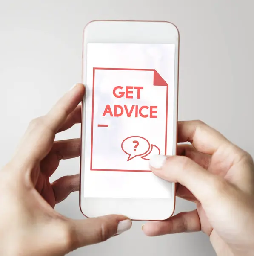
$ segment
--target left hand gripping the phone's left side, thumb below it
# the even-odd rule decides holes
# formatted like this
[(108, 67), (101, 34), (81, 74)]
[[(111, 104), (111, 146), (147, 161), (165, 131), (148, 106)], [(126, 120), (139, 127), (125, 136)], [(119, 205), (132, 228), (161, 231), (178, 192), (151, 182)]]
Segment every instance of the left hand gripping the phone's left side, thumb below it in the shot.
[(128, 230), (122, 215), (72, 220), (53, 208), (79, 188), (78, 175), (49, 182), (61, 159), (80, 155), (80, 139), (54, 141), (81, 119), (85, 88), (77, 84), (45, 116), (34, 119), (0, 172), (0, 255), (64, 255)]

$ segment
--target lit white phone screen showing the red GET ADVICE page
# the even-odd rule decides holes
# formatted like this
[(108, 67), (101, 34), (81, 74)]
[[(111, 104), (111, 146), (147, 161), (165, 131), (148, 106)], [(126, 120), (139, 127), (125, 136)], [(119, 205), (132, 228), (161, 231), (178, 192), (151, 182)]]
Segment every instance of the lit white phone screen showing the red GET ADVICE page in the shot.
[(84, 197), (171, 198), (149, 169), (173, 154), (174, 44), (87, 44)]

